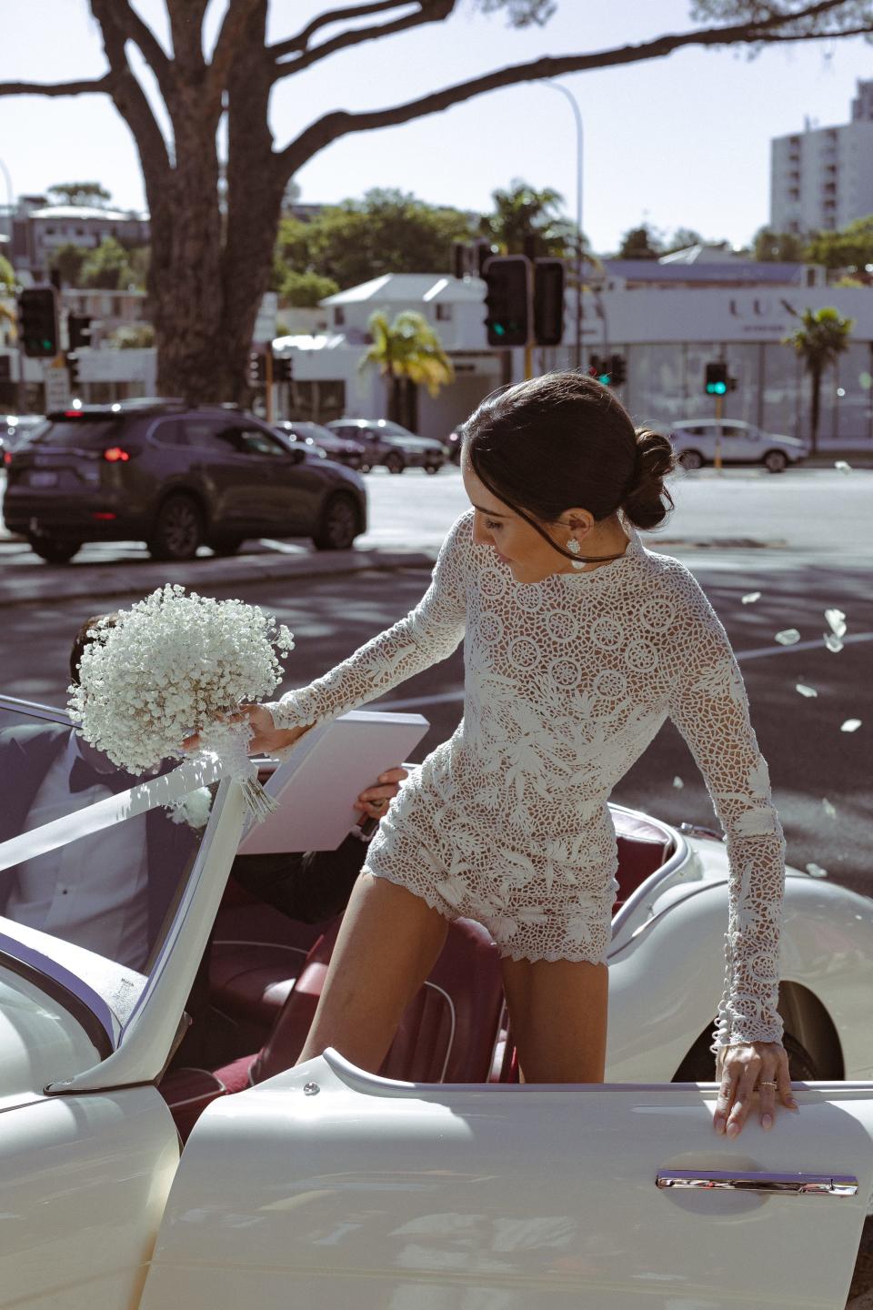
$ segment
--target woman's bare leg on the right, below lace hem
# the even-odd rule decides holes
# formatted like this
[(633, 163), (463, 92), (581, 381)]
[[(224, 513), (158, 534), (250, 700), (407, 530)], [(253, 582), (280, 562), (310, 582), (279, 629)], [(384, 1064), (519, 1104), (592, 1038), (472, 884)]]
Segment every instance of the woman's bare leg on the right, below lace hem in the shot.
[(503, 960), (525, 1082), (602, 1082), (609, 971), (571, 960)]

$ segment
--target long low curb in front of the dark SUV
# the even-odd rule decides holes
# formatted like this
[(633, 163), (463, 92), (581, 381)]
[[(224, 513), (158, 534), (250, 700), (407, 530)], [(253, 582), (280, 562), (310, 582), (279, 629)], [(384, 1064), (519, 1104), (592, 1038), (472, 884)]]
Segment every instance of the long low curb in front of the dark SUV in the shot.
[[(335, 550), (325, 554), (245, 555), (240, 559), (192, 559), (179, 565), (143, 563), (122, 566), (75, 565), (63, 574), (34, 576), (31, 570), (14, 591), (0, 588), (0, 607), (37, 605), (46, 601), (101, 596), (145, 596), (164, 583), (204, 590), (219, 583), (268, 582), (272, 578), (331, 578), (366, 570), (432, 569), (437, 552), (427, 550)], [(109, 571), (111, 569), (111, 572)]]

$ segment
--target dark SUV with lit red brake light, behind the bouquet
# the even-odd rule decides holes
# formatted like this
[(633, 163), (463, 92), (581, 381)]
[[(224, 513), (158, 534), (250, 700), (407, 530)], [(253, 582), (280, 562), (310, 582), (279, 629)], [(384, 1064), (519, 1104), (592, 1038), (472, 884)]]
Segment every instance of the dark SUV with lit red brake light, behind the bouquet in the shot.
[(360, 474), (236, 407), (60, 410), (4, 464), (7, 528), (51, 563), (85, 541), (143, 540), (154, 559), (191, 559), (259, 536), (346, 550), (366, 531)]

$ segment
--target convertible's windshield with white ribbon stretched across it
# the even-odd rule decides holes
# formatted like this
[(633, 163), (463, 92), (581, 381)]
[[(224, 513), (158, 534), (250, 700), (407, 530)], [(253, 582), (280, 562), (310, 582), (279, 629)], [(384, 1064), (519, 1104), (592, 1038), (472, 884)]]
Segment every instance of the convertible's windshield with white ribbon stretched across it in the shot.
[(213, 774), (122, 774), (62, 711), (0, 698), (0, 956), (73, 975), (123, 1024), (200, 850)]

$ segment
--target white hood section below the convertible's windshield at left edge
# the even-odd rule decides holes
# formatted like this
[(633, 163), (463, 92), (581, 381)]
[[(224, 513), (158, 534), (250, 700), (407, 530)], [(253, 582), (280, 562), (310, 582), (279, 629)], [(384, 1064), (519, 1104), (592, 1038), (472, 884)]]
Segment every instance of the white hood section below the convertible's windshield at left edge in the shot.
[(101, 1052), (38, 979), (0, 964), (0, 1108), (90, 1069)]

